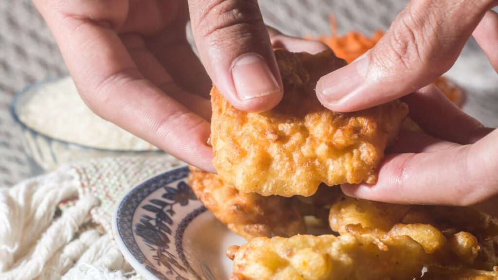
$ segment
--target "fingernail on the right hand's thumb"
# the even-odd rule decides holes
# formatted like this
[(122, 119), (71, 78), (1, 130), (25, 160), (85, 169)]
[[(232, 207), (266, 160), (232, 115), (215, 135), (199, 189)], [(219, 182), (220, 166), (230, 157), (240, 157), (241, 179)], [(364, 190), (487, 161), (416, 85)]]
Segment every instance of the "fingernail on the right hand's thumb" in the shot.
[(340, 102), (365, 81), (369, 63), (370, 57), (364, 54), (351, 64), (323, 76), (317, 83), (317, 93), (329, 103)]

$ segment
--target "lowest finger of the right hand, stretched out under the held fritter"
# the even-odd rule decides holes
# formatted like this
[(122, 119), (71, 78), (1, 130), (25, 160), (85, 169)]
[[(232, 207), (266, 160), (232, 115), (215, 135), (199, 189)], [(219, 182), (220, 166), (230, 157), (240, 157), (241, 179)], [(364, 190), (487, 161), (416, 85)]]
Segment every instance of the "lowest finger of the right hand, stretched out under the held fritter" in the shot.
[(498, 194), (498, 130), (473, 145), (388, 155), (377, 183), (342, 185), (346, 195), (399, 204), (469, 206)]

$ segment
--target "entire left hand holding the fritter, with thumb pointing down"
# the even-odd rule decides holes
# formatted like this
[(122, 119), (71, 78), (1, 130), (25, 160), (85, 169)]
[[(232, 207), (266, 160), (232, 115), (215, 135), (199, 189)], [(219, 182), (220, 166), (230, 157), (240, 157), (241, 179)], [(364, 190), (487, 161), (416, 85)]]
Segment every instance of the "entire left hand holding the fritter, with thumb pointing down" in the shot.
[[(78, 92), (97, 115), (211, 172), (215, 170), (207, 144), (212, 85), (208, 73), (234, 106), (265, 111), (282, 95), (272, 43), (295, 51), (326, 48), (273, 29), (270, 39), (255, 0), (190, 1), (206, 73), (186, 38), (187, 1), (34, 2), (57, 40)], [(258, 56), (249, 59), (246, 53)], [(245, 57), (243, 66), (234, 64), (231, 70), (238, 57)], [(265, 68), (257, 57), (264, 57), (269, 66)], [(248, 64), (254, 61), (260, 63)], [(234, 83), (231, 72), (242, 75), (242, 80)], [(278, 90), (265, 82), (276, 83)], [(239, 97), (249, 95), (252, 98)]]

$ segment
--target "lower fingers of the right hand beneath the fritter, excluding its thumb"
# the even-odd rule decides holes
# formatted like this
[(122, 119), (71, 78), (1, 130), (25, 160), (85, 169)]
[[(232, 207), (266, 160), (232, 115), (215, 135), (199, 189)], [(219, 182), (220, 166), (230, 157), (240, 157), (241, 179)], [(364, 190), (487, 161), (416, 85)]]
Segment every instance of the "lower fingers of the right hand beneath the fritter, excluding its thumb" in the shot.
[(402, 100), (427, 134), (402, 130), (377, 183), (341, 186), (349, 196), (400, 204), (475, 206), (498, 215), (498, 130), (484, 127), (434, 85)]

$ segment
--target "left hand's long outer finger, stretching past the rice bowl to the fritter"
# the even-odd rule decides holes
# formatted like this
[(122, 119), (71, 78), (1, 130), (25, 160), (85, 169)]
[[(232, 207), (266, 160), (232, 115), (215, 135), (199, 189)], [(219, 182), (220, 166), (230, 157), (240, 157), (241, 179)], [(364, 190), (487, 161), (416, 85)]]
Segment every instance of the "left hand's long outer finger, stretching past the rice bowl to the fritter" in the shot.
[(209, 123), (146, 80), (113, 30), (127, 3), (92, 1), (79, 13), (82, 2), (35, 1), (84, 101), (102, 118), (213, 172)]

